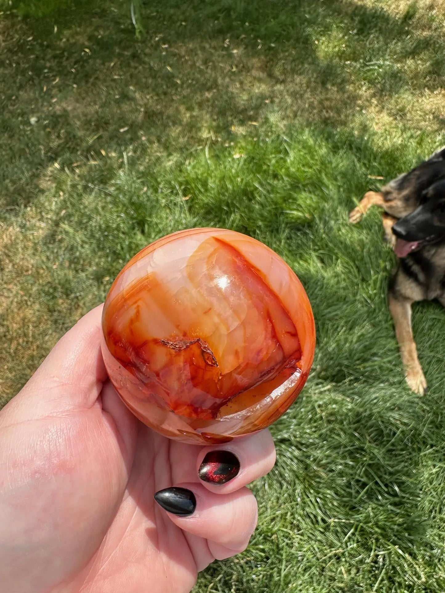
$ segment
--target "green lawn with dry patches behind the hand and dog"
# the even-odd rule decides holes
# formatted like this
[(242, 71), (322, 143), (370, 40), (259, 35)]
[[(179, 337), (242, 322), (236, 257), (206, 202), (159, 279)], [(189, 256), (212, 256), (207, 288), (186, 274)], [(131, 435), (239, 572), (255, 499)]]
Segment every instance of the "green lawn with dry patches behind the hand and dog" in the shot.
[[(443, 0), (0, 0), (0, 398), (178, 229), (252, 235), (297, 272), (317, 352), (272, 427), (259, 525), (196, 593), (445, 591), (445, 312), (403, 380), (377, 212), (445, 144)], [(153, 592), (155, 593), (155, 592)]]

